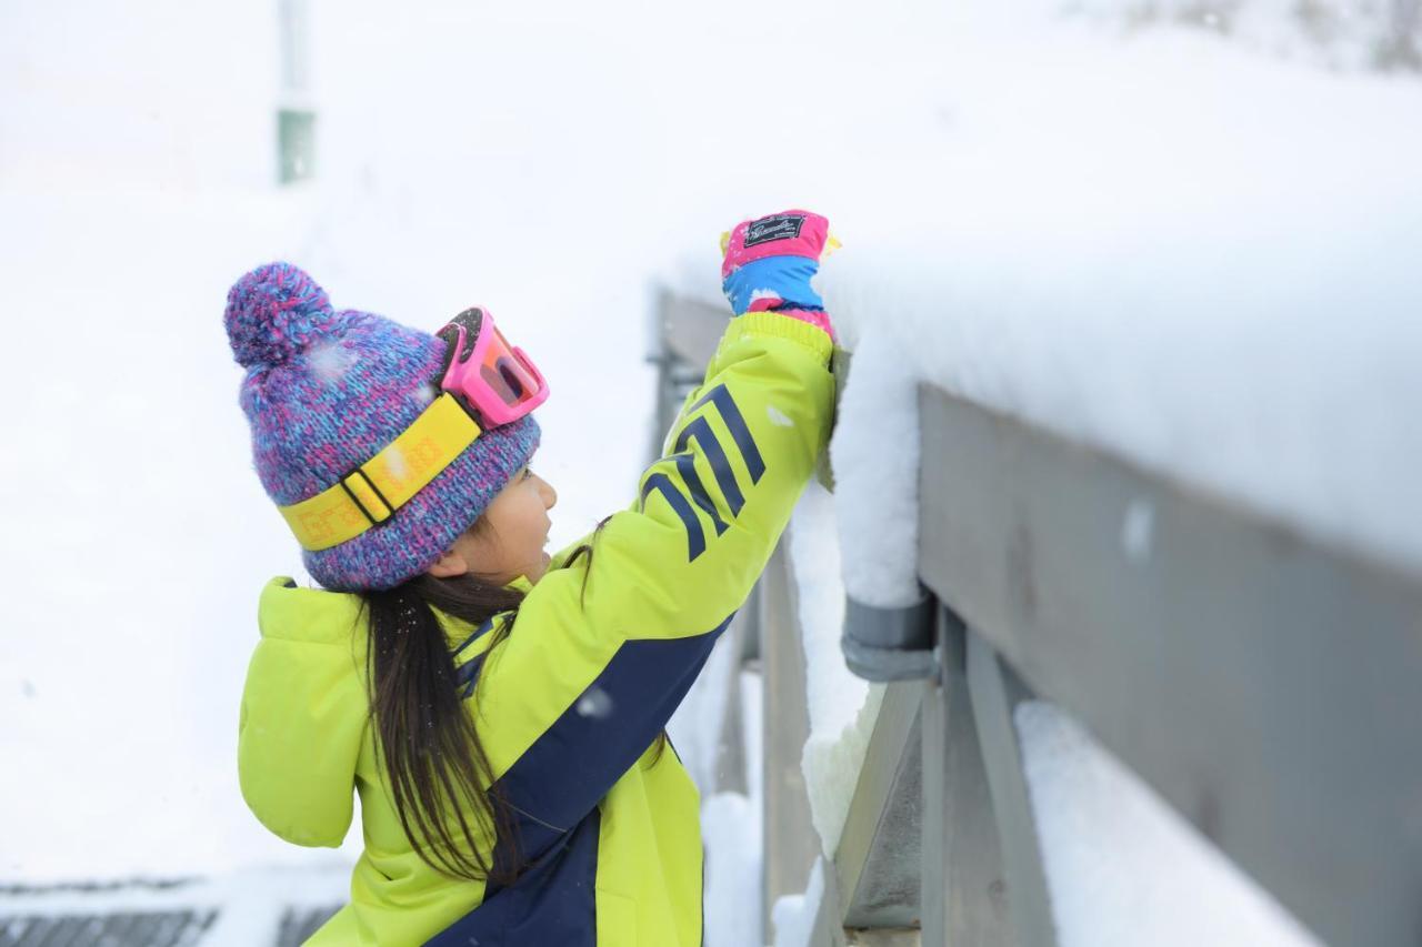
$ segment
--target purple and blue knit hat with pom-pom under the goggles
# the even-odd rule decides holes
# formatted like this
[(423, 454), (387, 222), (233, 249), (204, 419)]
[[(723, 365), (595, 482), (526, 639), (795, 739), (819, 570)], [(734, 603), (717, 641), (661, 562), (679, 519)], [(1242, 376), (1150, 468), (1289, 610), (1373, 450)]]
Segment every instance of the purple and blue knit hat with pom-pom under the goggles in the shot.
[[(252, 425), (257, 476), (277, 506), (334, 486), (395, 439), (438, 394), (445, 343), (388, 319), (333, 310), (290, 263), (239, 279), (223, 313)], [(432, 566), (539, 444), (533, 415), (481, 434), (395, 515), (354, 539), (304, 550), (340, 592), (391, 589)]]

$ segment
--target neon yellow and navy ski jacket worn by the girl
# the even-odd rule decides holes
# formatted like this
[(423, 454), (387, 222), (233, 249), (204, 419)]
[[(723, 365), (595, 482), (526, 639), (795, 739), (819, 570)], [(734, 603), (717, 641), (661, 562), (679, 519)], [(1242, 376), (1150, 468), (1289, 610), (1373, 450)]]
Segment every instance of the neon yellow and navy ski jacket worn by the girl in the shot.
[(825, 449), (829, 355), (808, 323), (731, 320), (665, 456), (603, 528), (592, 563), (569, 566), (570, 546), (536, 586), (518, 579), (528, 594), (496, 647), (493, 621), (441, 616), (495, 778), (520, 813), (532, 867), (510, 887), (435, 872), (402, 832), (367, 725), (357, 596), (266, 586), (242, 698), (243, 798), (280, 838), (331, 847), (350, 828), (353, 789), (361, 799), (350, 904), (309, 944), (701, 944), (700, 796), (677, 755), (651, 748)]

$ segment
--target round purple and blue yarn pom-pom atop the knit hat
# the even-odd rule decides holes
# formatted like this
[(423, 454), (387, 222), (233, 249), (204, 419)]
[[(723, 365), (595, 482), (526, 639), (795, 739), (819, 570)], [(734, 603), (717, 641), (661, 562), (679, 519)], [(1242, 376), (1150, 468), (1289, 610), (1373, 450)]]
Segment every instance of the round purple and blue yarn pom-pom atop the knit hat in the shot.
[(304, 351), (336, 323), (326, 290), (306, 270), (267, 263), (228, 291), (222, 321), (243, 368), (279, 365)]

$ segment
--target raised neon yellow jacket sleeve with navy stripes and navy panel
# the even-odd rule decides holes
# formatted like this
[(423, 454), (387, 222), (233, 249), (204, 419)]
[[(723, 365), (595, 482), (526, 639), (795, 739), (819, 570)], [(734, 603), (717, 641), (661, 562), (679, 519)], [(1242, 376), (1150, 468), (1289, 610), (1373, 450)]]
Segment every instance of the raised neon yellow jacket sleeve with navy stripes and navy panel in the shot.
[(823, 330), (778, 313), (732, 320), (593, 555), (559, 553), (509, 637), (456, 657), (478, 674), (493, 772), (533, 823), (567, 829), (597, 803), (745, 601), (829, 439), (830, 351)]

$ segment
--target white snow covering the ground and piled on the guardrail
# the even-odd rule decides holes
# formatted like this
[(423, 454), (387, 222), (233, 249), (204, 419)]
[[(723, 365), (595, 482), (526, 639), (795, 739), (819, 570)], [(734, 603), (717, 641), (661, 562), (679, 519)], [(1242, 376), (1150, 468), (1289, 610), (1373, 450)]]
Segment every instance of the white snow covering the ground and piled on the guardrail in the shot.
[[(634, 489), (654, 279), (714, 296), (717, 233), (799, 205), (846, 242), (825, 289), (852, 343), (882, 330), (916, 377), (1422, 562), (1415, 80), (924, 0), (313, 0), (317, 178), (279, 192), (274, 16), (189, 7), (0, 6), (0, 879), (330, 865), (267, 836), (233, 772), (256, 590), (300, 574), (219, 319), (269, 259), (410, 324), (489, 306), (553, 387), (555, 542)], [(883, 493), (907, 468), (875, 469)], [(887, 537), (846, 546), (850, 592), (902, 594), (912, 533), (836, 513)], [(825, 772), (873, 691), (816, 697), (842, 667), (815, 565)], [(815, 781), (829, 842), (848, 798)]]

